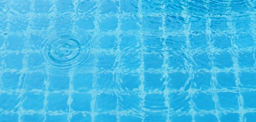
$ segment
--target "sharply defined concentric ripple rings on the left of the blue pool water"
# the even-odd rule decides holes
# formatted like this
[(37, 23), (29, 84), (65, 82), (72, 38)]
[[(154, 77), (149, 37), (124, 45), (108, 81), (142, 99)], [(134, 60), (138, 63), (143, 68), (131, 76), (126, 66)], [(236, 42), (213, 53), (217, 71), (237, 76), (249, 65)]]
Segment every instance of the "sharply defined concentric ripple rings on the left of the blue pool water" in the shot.
[(48, 73), (81, 72), (94, 60), (94, 40), (81, 28), (54, 28), (44, 35), (39, 47), (44, 51)]

